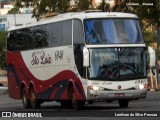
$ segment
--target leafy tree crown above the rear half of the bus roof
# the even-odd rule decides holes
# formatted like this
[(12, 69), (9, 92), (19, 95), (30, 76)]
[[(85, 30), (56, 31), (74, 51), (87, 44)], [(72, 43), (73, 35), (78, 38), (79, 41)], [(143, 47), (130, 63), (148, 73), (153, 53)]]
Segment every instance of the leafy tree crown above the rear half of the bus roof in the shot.
[(15, 10), (23, 7), (33, 7), (32, 17), (39, 20), (40, 16), (53, 12), (66, 12), (69, 7), (69, 0), (16, 0), (15, 7), (11, 13), (17, 13)]

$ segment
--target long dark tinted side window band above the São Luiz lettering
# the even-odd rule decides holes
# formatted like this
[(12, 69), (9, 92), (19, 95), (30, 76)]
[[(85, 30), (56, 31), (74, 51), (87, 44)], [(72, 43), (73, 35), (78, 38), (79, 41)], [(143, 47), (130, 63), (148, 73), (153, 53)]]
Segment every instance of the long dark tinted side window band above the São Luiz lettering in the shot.
[(9, 50), (71, 45), (72, 20), (11, 31), (7, 39)]

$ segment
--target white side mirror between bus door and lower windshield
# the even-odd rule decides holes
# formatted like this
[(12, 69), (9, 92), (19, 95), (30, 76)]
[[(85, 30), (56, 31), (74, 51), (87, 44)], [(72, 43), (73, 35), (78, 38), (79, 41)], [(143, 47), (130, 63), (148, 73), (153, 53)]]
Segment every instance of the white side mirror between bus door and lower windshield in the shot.
[(83, 66), (89, 66), (89, 51), (86, 47), (83, 48)]

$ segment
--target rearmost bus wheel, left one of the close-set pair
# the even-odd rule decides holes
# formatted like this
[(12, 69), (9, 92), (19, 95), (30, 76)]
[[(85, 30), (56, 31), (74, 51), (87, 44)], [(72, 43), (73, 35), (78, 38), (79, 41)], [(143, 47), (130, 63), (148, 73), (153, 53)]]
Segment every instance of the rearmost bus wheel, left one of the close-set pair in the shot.
[(26, 108), (26, 109), (30, 108), (31, 104), (30, 104), (30, 100), (27, 99), (25, 87), (22, 89), (22, 93), (21, 94), (22, 94), (21, 96), (22, 96), (23, 107)]

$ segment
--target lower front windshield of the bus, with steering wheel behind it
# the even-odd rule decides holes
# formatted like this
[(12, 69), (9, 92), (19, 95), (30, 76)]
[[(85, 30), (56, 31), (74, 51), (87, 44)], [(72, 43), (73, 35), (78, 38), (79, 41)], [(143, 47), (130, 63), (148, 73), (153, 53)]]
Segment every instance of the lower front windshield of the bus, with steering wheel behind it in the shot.
[(90, 79), (132, 79), (146, 76), (144, 48), (95, 48), (89, 51)]

